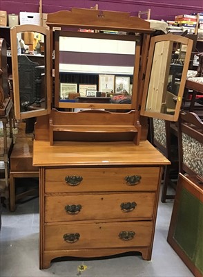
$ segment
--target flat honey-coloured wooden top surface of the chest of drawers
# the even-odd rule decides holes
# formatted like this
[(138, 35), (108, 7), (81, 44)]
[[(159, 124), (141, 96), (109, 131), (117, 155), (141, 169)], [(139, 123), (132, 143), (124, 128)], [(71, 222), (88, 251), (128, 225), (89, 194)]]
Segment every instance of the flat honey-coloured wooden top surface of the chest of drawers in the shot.
[(170, 162), (148, 141), (81, 143), (34, 141), (33, 166), (158, 166)]

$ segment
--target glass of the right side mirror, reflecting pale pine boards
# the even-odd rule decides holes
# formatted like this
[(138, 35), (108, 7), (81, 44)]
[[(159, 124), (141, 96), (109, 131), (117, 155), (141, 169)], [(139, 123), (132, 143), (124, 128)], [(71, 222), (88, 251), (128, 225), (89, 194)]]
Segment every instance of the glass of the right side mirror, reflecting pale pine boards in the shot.
[(146, 111), (175, 114), (187, 46), (173, 41), (155, 43)]

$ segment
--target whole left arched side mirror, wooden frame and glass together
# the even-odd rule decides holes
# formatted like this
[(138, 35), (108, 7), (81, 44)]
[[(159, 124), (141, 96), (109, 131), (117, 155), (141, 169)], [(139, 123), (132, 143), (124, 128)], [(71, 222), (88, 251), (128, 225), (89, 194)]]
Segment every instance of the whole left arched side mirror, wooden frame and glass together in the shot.
[(35, 25), (22, 25), (11, 28), (10, 34), (15, 116), (23, 119), (49, 114), (48, 30)]

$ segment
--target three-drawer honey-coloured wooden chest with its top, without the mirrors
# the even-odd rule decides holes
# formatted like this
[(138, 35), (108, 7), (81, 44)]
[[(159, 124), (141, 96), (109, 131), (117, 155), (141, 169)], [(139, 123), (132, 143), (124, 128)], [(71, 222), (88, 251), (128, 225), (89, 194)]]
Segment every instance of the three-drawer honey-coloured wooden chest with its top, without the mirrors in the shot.
[(61, 256), (139, 251), (151, 259), (162, 166), (168, 163), (160, 152), (147, 141), (136, 148), (35, 141), (34, 153), (34, 166), (40, 166), (41, 268)]

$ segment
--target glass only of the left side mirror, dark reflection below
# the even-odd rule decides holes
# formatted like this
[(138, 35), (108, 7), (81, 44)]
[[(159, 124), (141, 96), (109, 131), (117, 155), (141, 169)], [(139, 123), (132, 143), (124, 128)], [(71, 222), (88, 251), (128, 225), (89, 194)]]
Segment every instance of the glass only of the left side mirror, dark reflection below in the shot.
[(20, 111), (45, 108), (44, 35), (17, 33)]

